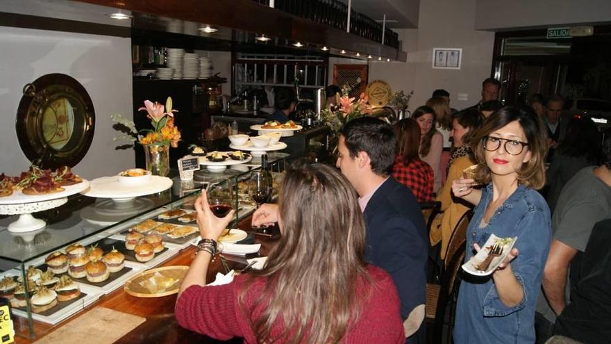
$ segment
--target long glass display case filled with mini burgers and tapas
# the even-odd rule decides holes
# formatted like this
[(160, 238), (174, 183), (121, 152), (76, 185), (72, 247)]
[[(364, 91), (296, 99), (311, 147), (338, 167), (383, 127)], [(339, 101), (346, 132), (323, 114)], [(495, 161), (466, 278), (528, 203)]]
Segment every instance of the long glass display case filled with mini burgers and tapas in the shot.
[[(280, 173), (285, 170), (289, 158), (290, 154), (269, 154), (268, 170), (276, 179), (276, 190)], [(237, 210), (235, 224), (252, 213), (256, 202), (251, 197), (249, 181), (253, 171), (260, 170), (260, 159), (237, 166), (223, 172), (210, 172), (201, 166), (202, 170), (195, 173), (192, 181), (181, 181), (176, 177), (168, 190), (135, 197), (127, 202), (74, 195), (58, 208), (35, 213), (37, 218), (47, 222), (47, 227), (37, 231), (12, 233), (7, 227), (17, 215), (0, 217), (0, 279), (3, 280), (2, 286), (8, 286), (0, 288), (0, 292), (11, 300), (17, 336), (33, 338), (44, 334), (44, 331), (96, 302), (102, 295), (121, 288), (125, 281), (139, 272), (160, 265), (196, 243), (199, 230), (190, 213), (194, 213), (194, 200), (201, 188), (225, 185), (231, 190), (231, 199), (235, 202), (232, 207)], [(140, 231), (142, 236), (159, 234), (163, 246), (152, 257), (142, 259), (133, 250), (134, 247), (128, 247), (131, 241), (127, 235), (131, 231)], [(78, 263), (66, 265), (67, 258), (53, 261), (56, 256), (71, 253), (67, 248), (74, 244), (82, 246), (76, 248), (75, 254), (85, 252), (85, 261), (105, 261), (101, 255), (115, 249), (124, 254), (123, 268), (109, 272), (108, 277), (99, 281), (85, 276), (85, 269)], [(94, 257), (95, 252), (99, 256)], [(64, 275), (77, 282), (81, 291), (79, 295), (66, 297), (59, 288), (53, 291), (55, 295), (51, 302), (41, 301), (41, 297), (33, 299), (37, 293), (47, 293), (41, 290), (55, 288), (53, 281), (56, 280), (53, 277), (65, 279)], [(10, 288), (11, 284), (21, 284), (22, 287)], [(35, 322), (47, 325), (35, 326)]]

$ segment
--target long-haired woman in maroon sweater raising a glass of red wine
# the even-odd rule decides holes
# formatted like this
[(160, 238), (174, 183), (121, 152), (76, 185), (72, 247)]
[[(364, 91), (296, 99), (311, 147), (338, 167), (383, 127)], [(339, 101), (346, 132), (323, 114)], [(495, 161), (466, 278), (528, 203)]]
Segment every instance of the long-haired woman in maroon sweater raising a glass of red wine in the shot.
[[(265, 205), (264, 205), (265, 206)], [(278, 221), (282, 237), (265, 267), (205, 286), (217, 238), (233, 212), (216, 218), (195, 203), (204, 245), (178, 293), (176, 319), (214, 338), (245, 343), (403, 343), (392, 279), (363, 261), (365, 222), (350, 183), (332, 167), (288, 170), (279, 206), (253, 222)], [(206, 244), (210, 243), (210, 245)]]

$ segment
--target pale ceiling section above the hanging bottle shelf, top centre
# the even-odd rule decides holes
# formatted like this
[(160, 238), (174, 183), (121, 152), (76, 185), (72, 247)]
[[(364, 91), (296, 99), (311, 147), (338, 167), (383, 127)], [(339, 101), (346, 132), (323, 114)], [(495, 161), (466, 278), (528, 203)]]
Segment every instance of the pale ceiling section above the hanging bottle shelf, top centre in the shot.
[[(348, 0), (340, 0), (348, 3)], [(420, 0), (352, 0), (352, 9), (371, 19), (386, 15), (389, 28), (417, 28)]]

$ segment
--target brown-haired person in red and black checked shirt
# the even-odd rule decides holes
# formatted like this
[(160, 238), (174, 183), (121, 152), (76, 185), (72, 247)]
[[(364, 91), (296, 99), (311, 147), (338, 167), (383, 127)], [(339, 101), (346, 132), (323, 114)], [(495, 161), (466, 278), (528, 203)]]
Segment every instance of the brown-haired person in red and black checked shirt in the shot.
[(396, 135), (396, 158), (392, 177), (410, 188), (418, 202), (433, 200), (433, 169), (420, 160), (420, 126), (411, 118), (403, 118), (393, 125)]

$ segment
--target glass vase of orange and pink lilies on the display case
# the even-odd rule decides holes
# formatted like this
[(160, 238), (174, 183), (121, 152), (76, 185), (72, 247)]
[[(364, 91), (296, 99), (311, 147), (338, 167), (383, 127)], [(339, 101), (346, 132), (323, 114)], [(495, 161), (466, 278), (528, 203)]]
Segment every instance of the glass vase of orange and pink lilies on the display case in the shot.
[(171, 97), (167, 97), (165, 106), (146, 100), (144, 106), (138, 110), (147, 111), (153, 129), (137, 131), (133, 121), (116, 113), (111, 116), (111, 120), (115, 122), (115, 129), (124, 134), (115, 137), (115, 141), (132, 142), (132, 145), (123, 145), (119, 148), (132, 147), (133, 142), (136, 141), (140, 143), (144, 147), (147, 170), (153, 175), (166, 177), (169, 174), (169, 147), (178, 147), (178, 141), (181, 140), (181, 132), (174, 125), (174, 113), (178, 110), (172, 109)]

